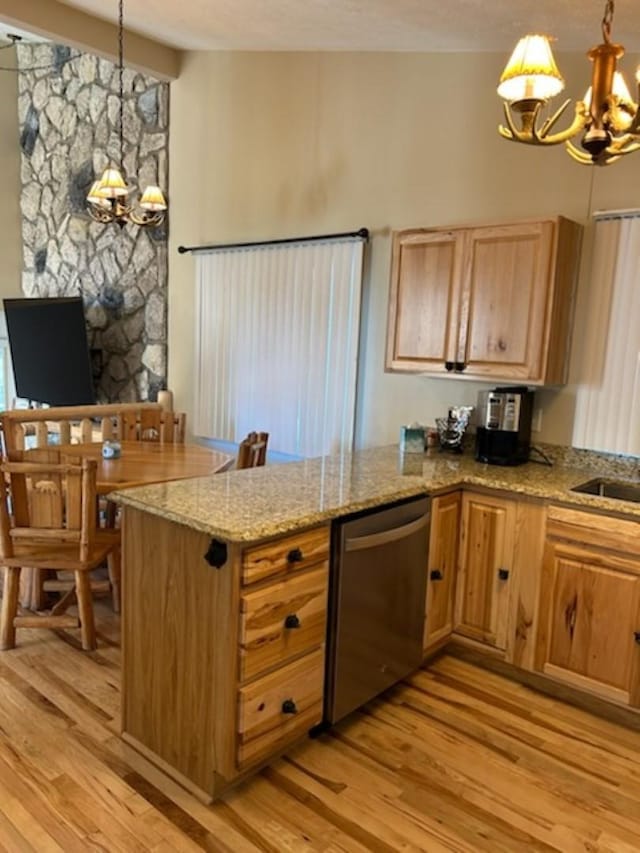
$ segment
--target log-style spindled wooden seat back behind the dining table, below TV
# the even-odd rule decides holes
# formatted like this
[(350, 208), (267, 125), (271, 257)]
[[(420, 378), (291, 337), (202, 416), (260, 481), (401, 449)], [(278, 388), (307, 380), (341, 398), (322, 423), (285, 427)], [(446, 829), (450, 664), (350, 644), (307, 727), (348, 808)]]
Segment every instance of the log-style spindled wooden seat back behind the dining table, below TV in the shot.
[[(0, 413), (5, 452), (49, 444), (84, 444), (124, 438), (130, 424), (145, 429), (162, 427), (159, 403), (106, 403), (97, 406), (54, 406), (49, 409), (11, 409)], [(167, 413), (170, 414), (170, 413)], [(179, 434), (173, 424), (167, 435)], [(133, 432), (139, 432), (135, 427)], [(172, 439), (173, 440), (173, 439)], [(184, 440), (184, 439), (183, 439)]]

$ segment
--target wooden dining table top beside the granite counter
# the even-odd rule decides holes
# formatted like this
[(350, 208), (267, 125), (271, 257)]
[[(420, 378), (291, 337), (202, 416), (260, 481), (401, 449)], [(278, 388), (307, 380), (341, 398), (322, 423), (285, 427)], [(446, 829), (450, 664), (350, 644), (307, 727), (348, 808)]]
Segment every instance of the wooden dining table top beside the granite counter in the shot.
[(96, 479), (100, 495), (169, 480), (206, 477), (227, 470), (233, 462), (228, 454), (199, 444), (122, 441), (120, 446), (118, 459), (103, 459), (101, 442), (62, 444), (58, 449), (68, 458), (88, 457), (98, 462)]

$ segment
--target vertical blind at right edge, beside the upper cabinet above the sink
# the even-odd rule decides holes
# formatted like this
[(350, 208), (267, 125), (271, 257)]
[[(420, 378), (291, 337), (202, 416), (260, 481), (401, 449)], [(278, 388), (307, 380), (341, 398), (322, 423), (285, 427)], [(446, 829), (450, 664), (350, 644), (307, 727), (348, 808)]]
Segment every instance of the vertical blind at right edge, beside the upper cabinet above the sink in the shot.
[(640, 213), (596, 221), (573, 444), (640, 454)]

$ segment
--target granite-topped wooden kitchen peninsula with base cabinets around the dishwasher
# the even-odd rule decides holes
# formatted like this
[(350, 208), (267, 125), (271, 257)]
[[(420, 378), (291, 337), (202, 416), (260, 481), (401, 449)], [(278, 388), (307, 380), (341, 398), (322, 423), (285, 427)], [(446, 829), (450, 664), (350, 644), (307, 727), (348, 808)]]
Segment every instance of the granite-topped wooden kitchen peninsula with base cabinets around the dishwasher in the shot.
[[(330, 523), (421, 494), (425, 655), (453, 639), (640, 705), (640, 504), (570, 491), (599, 473), (388, 447), (116, 493), (123, 738), (208, 800), (319, 723)], [(619, 641), (583, 598), (615, 608)]]

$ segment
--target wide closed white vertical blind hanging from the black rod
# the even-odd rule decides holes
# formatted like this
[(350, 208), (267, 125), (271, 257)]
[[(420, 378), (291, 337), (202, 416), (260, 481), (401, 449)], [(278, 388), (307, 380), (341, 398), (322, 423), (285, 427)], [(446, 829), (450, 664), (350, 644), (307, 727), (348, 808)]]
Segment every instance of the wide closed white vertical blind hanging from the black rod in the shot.
[(196, 256), (196, 435), (265, 431), (270, 449), (305, 457), (352, 448), (363, 245)]

